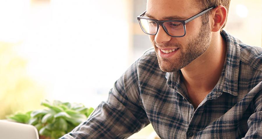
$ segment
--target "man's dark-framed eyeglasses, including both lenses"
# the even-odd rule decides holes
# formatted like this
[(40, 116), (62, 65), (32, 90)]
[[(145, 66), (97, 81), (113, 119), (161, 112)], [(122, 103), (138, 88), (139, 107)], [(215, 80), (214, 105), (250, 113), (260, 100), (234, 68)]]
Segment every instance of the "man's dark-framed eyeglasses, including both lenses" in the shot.
[(209, 10), (215, 8), (215, 6), (208, 8), (186, 20), (164, 20), (158, 21), (150, 18), (143, 17), (146, 14), (146, 11), (137, 17), (137, 20), (140, 24), (141, 29), (143, 32), (149, 35), (157, 34), (159, 25), (162, 26), (164, 31), (171, 37), (183, 37), (186, 34), (186, 27), (185, 24), (200, 17), (201, 15), (205, 14)]

